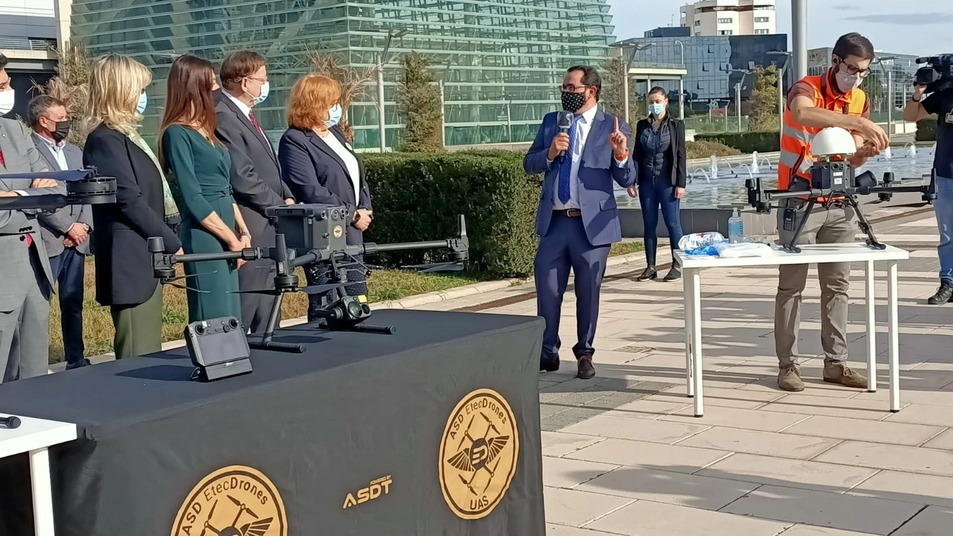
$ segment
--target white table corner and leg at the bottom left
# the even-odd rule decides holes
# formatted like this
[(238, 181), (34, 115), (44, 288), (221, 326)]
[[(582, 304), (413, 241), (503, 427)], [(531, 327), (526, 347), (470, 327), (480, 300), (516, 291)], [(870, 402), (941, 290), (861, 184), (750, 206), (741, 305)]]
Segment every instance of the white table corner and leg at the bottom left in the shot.
[[(0, 413), (0, 417), (8, 415)], [(0, 458), (30, 453), (33, 525), (36, 536), (55, 536), (48, 447), (76, 439), (76, 425), (20, 417), (20, 427), (0, 427)]]

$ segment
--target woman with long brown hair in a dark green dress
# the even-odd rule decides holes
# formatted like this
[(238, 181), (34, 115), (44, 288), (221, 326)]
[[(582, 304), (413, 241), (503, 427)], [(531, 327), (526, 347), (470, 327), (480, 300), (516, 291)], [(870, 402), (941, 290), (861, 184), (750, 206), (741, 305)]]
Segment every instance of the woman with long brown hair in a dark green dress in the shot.
[[(182, 214), (179, 238), (186, 253), (252, 247), (251, 235), (232, 197), (232, 159), (214, 137), (214, 84), (214, 70), (208, 61), (187, 54), (172, 62), (159, 148)], [(233, 261), (185, 265), (189, 322), (241, 318), (239, 266)]]

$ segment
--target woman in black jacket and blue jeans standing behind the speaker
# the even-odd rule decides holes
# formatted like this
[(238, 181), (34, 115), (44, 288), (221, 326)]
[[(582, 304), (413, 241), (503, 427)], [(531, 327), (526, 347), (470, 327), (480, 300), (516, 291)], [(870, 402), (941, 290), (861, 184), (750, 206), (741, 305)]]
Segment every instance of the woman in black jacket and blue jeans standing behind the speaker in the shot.
[[(659, 237), (659, 207), (672, 251), (679, 248), (681, 238), (681, 198), (685, 195), (685, 124), (668, 114), (665, 89), (649, 91), (649, 117), (636, 127), (636, 165), (638, 186), (629, 187), (629, 195), (639, 196), (645, 235), (645, 260), (648, 266), (639, 281), (656, 279), (656, 249)], [(681, 270), (675, 256), (665, 281), (678, 281)]]

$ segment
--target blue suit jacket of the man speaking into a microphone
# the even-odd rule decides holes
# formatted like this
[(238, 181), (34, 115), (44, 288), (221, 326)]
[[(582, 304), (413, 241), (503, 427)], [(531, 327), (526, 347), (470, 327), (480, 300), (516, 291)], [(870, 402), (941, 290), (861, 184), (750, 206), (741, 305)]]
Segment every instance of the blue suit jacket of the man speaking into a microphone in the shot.
[[(557, 112), (549, 113), (543, 118), (536, 140), (526, 154), (526, 158), (523, 159), (523, 168), (527, 173), (545, 174), (537, 210), (539, 236), (545, 236), (549, 230), (553, 210), (556, 207), (560, 159), (557, 158), (552, 164), (547, 161), (553, 138), (559, 133), (556, 118)], [(628, 188), (635, 184), (638, 175), (631, 155), (626, 159), (624, 166), (619, 167), (616, 163), (612, 148), (609, 146), (609, 135), (615, 128), (615, 116), (603, 113), (601, 110), (597, 111), (596, 119), (586, 138), (586, 147), (582, 149), (582, 161), (579, 164), (579, 210), (582, 212), (586, 236), (593, 246), (606, 246), (622, 240), (613, 181), (622, 188)], [(632, 129), (629, 129), (624, 121), (619, 122), (618, 129), (629, 139), (631, 147)]]

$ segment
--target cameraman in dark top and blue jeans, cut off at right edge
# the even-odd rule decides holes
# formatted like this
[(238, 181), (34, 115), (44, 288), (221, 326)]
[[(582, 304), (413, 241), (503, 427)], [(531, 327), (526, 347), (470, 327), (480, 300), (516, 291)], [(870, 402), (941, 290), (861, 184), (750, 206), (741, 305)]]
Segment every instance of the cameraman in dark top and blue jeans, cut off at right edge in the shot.
[(953, 89), (935, 91), (923, 97), (926, 86), (913, 87), (913, 97), (903, 109), (903, 121), (914, 123), (937, 114), (937, 150), (933, 168), (937, 170), (937, 200), (933, 210), (940, 228), (940, 288), (927, 303), (938, 306), (953, 301)]

